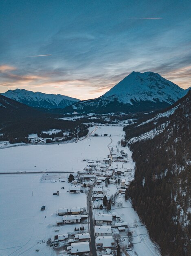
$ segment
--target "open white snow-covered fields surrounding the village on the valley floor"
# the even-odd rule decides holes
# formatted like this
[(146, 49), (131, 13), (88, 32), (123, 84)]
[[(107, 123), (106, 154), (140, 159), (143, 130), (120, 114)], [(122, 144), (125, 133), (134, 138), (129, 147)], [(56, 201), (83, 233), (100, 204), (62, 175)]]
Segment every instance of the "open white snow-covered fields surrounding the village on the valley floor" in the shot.
[[(95, 127), (90, 128), (90, 132)], [(94, 133), (94, 132), (93, 132)], [(82, 171), (87, 165), (83, 159), (103, 159), (109, 154), (108, 144), (113, 148), (113, 154), (117, 149), (124, 150), (128, 155), (127, 163), (112, 162), (112, 167), (118, 169), (129, 169), (125, 172), (125, 177), (132, 180), (134, 177), (134, 163), (132, 162), (132, 152), (129, 148), (122, 148), (117, 142), (124, 139), (124, 132), (120, 126), (98, 126), (95, 133), (98, 137), (88, 137), (77, 143), (51, 144), (51, 145), (30, 145), (4, 148), (0, 150), (0, 172), (17, 171), (53, 171), (55, 173), (35, 173), (35, 174), (1, 174), (0, 177), (0, 256), (33, 256), (35, 249), (39, 248), (39, 255), (56, 255), (56, 252), (42, 243), (49, 237), (54, 238), (58, 232), (65, 234), (73, 232), (75, 227), (84, 226), (88, 231), (87, 224), (64, 225), (57, 227), (56, 220), (61, 217), (56, 216), (59, 208), (66, 207), (86, 207), (87, 198), (85, 193), (70, 194), (68, 192), (70, 184), (67, 182), (68, 173), (56, 173), (57, 171), (76, 172)], [(110, 137), (104, 137), (108, 133)], [(127, 159), (127, 158), (126, 158)], [(122, 166), (123, 165), (123, 166)], [(123, 177), (123, 176), (121, 176)], [(66, 179), (59, 182), (59, 178)], [(107, 197), (116, 192), (120, 185), (110, 184), (108, 188), (101, 184)], [(64, 186), (64, 189), (61, 187)], [(53, 195), (59, 191), (59, 196)], [(124, 222), (133, 225), (136, 218), (139, 223), (137, 213), (131, 207), (129, 201), (125, 202), (124, 197), (117, 198), (123, 201), (123, 207), (112, 211), (119, 213)], [(97, 202), (97, 201), (96, 201)], [(46, 206), (45, 211), (40, 211), (42, 205)], [(99, 210), (97, 210), (99, 212)], [(130, 255), (135, 256), (156, 256), (154, 244), (151, 242), (144, 226), (133, 228), (134, 231), (134, 251)]]

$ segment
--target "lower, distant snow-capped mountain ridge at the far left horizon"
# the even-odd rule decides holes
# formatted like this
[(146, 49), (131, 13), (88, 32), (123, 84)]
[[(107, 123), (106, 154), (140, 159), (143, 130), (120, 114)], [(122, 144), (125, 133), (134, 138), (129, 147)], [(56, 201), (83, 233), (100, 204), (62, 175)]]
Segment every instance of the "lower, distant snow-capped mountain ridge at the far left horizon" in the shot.
[(65, 108), (79, 101), (61, 94), (46, 94), (42, 92), (32, 92), (24, 89), (9, 90), (1, 93), (9, 99), (24, 103), (31, 107), (39, 108)]

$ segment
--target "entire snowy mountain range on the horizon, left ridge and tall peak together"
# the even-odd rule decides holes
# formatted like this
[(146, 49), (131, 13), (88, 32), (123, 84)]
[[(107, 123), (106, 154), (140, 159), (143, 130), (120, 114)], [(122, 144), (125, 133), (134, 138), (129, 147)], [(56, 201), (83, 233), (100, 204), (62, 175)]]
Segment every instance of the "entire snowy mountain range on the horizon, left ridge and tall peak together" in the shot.
[(2, 95), (32, 107), (62, 109), (65, 113), (102, 114), (166, 108), (187, 94), (188, 90), (154, 72), (132, 72), (101, 97), (85, 101), (24, 89), (9, 90)]

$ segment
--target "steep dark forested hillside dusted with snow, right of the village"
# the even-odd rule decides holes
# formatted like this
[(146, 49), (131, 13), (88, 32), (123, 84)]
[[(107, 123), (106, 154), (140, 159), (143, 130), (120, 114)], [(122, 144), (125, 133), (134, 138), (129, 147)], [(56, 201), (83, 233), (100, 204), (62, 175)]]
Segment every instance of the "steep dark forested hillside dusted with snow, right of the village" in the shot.
[(129, 141), (160, 130), (130, 141), (136, 171), (129, 196), (165, 256), (191, 255), (191, 91), (179, 104), (171, 115), (125, 128)]

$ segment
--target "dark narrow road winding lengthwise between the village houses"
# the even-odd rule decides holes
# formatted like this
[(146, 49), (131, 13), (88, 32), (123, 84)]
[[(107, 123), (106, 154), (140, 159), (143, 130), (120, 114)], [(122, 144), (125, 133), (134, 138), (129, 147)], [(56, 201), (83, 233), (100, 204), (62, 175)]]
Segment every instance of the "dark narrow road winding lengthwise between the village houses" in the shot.
[[(110, 151), (110, 159), (111, 159), (109, 167), (112, 164), (112, 152), (109, 147), (109, 145), (112, 143), (112, 138), (110, 137), (110, 139), (111, 139), (111, 142), (108, 144), (108, 149)], [(96, 181), (91, 186), (89, 193), (88, 193), (88, 212), (89, 212), (89, 219), (90, 219), (90, 238), (91, 238), (90, 253), (93, 256), (97, 256), (96, 244), (95, 244), (95, 234), (94, 234), (94, 220), (93, 220), (93, 213), (92, 213), (92, 190), (93, 190), (93, 187), (95, 184), (96, 184)]]

